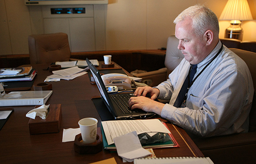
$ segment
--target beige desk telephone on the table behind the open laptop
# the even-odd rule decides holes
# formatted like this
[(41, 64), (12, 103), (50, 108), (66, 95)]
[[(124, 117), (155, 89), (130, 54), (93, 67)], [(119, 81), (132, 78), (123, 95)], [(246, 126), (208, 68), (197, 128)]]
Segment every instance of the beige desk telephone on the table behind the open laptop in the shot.
[(147, 86), (143, 83), (137, 83), (133, 79), (130, 79), (127, 75), (121, 73), (109, 73), (102, 75), (101, 77), (106, 87), (117, 86), (118, 90), (131, 90), (137, 86)]

